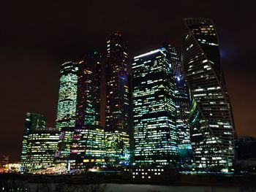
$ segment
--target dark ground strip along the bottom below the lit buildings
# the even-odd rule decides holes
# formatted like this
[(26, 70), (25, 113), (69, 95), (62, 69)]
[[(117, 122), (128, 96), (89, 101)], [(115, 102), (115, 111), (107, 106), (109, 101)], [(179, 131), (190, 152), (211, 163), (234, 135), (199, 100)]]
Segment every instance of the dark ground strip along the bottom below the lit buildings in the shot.
[(86, 191), (86, 192), (222, 192), (256, 191), (255, 175), (176, 175), (175, 179), (128, 180), (121, 175), (89, 173), (83, 175), (0, 174), (0, 191)]

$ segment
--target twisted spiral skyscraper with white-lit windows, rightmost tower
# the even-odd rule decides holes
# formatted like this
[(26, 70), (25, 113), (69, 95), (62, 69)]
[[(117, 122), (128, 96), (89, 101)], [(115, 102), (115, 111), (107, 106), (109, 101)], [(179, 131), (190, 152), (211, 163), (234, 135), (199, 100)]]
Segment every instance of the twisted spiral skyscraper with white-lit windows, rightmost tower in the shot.
[(182, 62), (192, 95), (189, 113), (192, 149), (198, 167), (232, 166), (234, 125), (219, 55), (219, 42), (210, 19), (184, 20)]

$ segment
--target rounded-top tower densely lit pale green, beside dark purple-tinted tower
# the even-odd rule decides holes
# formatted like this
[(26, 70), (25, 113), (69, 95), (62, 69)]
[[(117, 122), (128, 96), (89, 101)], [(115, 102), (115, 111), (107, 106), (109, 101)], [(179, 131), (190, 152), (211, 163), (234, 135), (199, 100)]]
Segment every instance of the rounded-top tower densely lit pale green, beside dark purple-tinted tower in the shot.
[(78, 64), (72, 61), (61, 65), (59, 78), (59, 100), (56, 115), (56, 128), (60, 130), (56, 163), (67, 165), (75, 129), (75, 112), (78, 89)]

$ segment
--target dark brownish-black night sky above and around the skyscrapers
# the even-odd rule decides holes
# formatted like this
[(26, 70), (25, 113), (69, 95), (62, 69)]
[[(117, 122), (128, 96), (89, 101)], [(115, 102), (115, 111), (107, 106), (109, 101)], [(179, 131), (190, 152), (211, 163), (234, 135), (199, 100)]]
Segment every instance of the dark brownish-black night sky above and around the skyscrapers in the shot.
[[(19, 160), (24, 115), (55, 125), (59, 67), (121, 31), (129, 55), (173, 43), (182, 18), (212, 18), (217, 28), (238, 136), (256, 137), (255, 5), (253, 1), (0, 1), (0, 155)], [(254, 62), (253, 62), (254, 61)]]

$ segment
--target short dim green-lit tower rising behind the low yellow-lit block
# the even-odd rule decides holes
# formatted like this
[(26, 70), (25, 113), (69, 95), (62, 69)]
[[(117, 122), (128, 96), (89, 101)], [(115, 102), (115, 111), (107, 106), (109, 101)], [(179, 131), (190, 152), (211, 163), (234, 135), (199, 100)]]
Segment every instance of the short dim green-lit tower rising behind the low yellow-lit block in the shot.
[(28, 139), (29, 134), (37, 128), (45, 128), (45, 117), (36, 113), (27, 112), (25, 117), (25, 127), (23, 133), (22, 149), (21, 149), (21, 172), (26, 172), (26, 164), (28, 162)]

